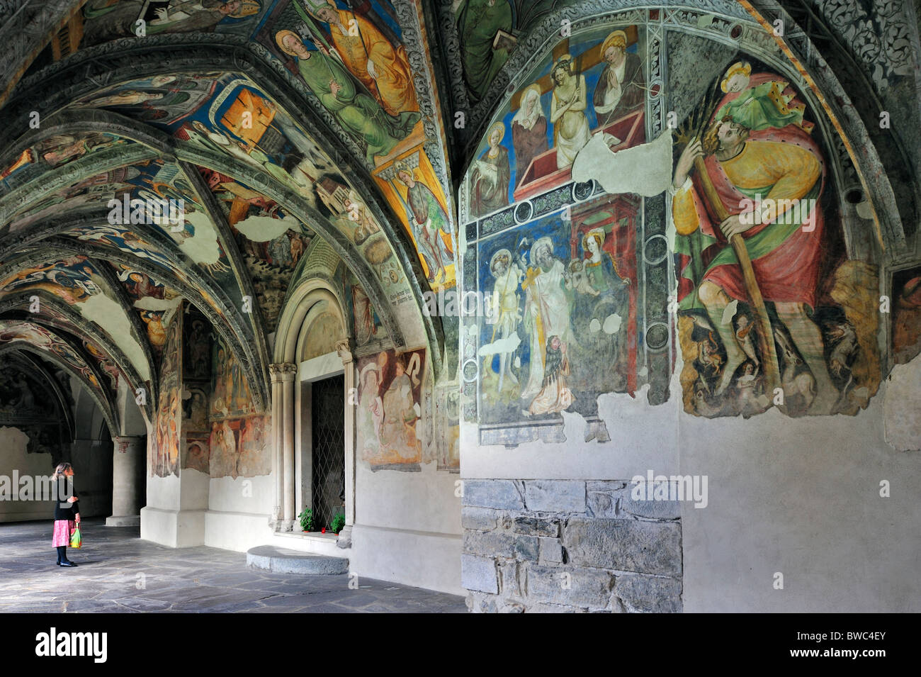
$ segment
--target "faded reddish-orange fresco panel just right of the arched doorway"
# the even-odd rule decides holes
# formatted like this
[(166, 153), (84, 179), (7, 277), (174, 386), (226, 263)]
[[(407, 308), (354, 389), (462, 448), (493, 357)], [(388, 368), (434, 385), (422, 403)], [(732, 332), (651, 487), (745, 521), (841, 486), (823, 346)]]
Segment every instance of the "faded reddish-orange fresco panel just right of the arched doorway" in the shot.
[(358, 360), (357, 454), (371, 470), (419, 470), (426, 351)]

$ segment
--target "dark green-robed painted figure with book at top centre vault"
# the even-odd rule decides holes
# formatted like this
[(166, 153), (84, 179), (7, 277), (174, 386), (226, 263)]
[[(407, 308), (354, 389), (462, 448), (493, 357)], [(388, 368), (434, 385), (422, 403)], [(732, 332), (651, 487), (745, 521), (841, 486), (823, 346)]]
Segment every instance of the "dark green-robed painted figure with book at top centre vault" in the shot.
[(480, 100), (508, 60), (507, 48), (496, 49), (495, 38), (500, 30), (511, 33), (512, 8), (507, 0), (461, 0), (457, 18), (464, 79)]

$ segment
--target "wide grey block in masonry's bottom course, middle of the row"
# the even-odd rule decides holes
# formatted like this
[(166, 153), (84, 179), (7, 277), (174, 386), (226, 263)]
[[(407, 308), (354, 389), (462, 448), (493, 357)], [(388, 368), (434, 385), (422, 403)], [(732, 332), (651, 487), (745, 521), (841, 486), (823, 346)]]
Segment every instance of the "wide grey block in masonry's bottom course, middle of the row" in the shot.
[(611, 601), (614, 577), (606, 571), (576, 566), (527, 567), (526, 596), (530, 602), (605, 609)]

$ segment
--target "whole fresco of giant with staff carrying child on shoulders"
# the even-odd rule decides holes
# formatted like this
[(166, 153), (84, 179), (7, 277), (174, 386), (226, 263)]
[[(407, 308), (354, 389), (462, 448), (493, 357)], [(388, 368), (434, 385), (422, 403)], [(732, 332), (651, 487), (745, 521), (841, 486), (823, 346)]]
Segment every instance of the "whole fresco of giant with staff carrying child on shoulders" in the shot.
[(878, 280), (845, 260), (813, 113), (753, 60), (712, 89), (672, 181), (685, 410), (855, 414), (880, 381)]

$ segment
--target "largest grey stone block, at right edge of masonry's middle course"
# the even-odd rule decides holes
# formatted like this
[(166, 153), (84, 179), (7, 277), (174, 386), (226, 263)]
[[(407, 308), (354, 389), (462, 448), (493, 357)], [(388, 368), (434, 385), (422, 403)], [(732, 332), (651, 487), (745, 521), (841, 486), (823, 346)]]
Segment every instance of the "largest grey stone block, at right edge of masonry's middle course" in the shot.
[(682, 531), (676, 522), (573, 518), (563, 528), (563, 547), (576, 566), (682, 573)]

